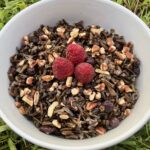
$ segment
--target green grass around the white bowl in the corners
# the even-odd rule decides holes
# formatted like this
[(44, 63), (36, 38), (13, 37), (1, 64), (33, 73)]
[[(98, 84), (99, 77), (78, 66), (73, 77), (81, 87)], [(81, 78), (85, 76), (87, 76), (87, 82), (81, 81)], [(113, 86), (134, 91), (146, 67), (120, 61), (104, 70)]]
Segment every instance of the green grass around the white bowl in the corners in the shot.
[[(0, 0), (0, 29), (17, 12), (38, 0)], [(150, 26), (150, 0), (113, 0), (136, 13)], [(16, 135), (0, 119), (0, 150), (45, 150)], [(134, 136), (107, 150), (150, 150), (150, 121)]]

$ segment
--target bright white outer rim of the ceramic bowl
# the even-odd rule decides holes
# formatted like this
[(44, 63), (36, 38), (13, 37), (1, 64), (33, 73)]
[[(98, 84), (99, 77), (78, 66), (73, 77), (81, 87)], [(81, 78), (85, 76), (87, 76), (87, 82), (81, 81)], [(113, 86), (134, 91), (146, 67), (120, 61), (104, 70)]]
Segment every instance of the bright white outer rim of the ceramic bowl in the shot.
[[(9, 26), (15, 22), (15, 20), (17, 18), (19, 18), (21, 15), (25, 14), (28, 10), (36, 8), (44, 3), (49, 3), (51, 1), (56, 1), (56, 0), (43, 0), (43, 1), (39, 1), (35, 4), (30, 5), (29, 7), (25, 8), (24, 10), (22, 10), (21, 12), (19, 12), (17, 15), (15, 15), (1, 30), (0, 32), (0, 38), (2, 37), (3, 33), (5, 33), (5, 31), (7, 30), (7, 28), (9, 28)], [(149, 37), (150, 37), (150, 29), (148, 28), (148, 26), (138, 17), (136, 16), (134, 13), (132, 13), (130, 10), (128, 10), (127, 8), (113, 2), (113, 1), (109, 1), (109, 0), (95, 0), (98, 2), (103, 2), (109, 5), (113, 5), (113, 7), (119, 8), (121, 10), (123, 10), (125, 13), (127, 13), (128, 15), (132, 16), (135, 20), (138, 21), (139, 24), (141, 24), (141, 26), (146, 30), (146, 32), (148, 33)], [(117, 143), (120, 143), (121, 141), (127, 139), (128, 137), (132, 136), (134, 133), (136, 133), (140, 128), (142, 128), (144, 126), (144, 124), (150, 119), (150, 110), (148, 111), (148, 113), (143, 116), (143, 118), (141, 119), (141, 121), (136, 124), (134, 127), (130, 128), (130, 130), (126, 131), (124, 134), (116, 137), (115, 139), (112, 139), (110, 141), (104, 142), (104, 143), (97, 143), (97, 144), (93, 144), (88, 146), (88, 148), (86, 146), (75, 146), (75, 147), (70, 147), (70, 146), (61, 146), (61, 145), (55, 145), (55, 144), (51, 144), (51, 143), (46, 143), (46, 142), (42, 142), (38, 139), (33, 138), (32, 136), (26, 134), (25, 132), (23, 132), (21, 129), (19, 129), (18, 127), (16, 127), (10, 120), (9, 117), (0, 110), (0, 117), (4, 120), (4, 122), (7, 123), (7, 125), (13, 130), (15, 131), (18, 135), (20, 135), (21, 137), (25, 138), (27, 141), (30, 141), (36, 145), (39, 145), (41, 147), (45, 147), (45, 148), (51, 148), (51, 149), (60, 149), (60, 150), (76, 150), (76, 149), (80, 149), (80, 150), (93, 150), (93, 149), (103, 149), (103, 148), (107, 148), (110, 147), (112, 145), (115, 145)], [(85, 139), (86, 140), (86, 139)]]

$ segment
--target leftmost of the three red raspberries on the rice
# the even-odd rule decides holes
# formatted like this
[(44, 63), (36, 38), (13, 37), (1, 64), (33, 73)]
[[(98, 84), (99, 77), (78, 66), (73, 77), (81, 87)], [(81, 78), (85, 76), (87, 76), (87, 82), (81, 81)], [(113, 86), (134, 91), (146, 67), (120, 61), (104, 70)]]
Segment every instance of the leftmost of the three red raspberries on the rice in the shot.
[(63, 80), (73, 74), (74, 66), (68, 59), (58, 57), (52, 65), (52, 70), (55, 78)]

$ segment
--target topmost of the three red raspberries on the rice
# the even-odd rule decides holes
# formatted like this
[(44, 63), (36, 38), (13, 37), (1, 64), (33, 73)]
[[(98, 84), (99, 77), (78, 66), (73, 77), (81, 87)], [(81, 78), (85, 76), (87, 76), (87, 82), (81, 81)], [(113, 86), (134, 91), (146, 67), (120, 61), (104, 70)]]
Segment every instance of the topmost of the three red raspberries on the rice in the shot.
[(66, 49), (66, 57), (73, 63), (79, 64), (84, 62), (86, 53), (84, 48), (79, 44), (69, 44)]

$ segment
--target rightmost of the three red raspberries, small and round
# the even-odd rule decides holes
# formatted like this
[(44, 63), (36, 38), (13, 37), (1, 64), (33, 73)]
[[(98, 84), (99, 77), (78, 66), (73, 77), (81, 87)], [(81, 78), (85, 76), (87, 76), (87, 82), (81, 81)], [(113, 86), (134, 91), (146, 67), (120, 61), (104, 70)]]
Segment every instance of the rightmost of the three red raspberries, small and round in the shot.
[(94, 78), (95, 71), (91, 64), (81, 63), (75, 68), (75, 77), (81, 83), (89, 83)]

